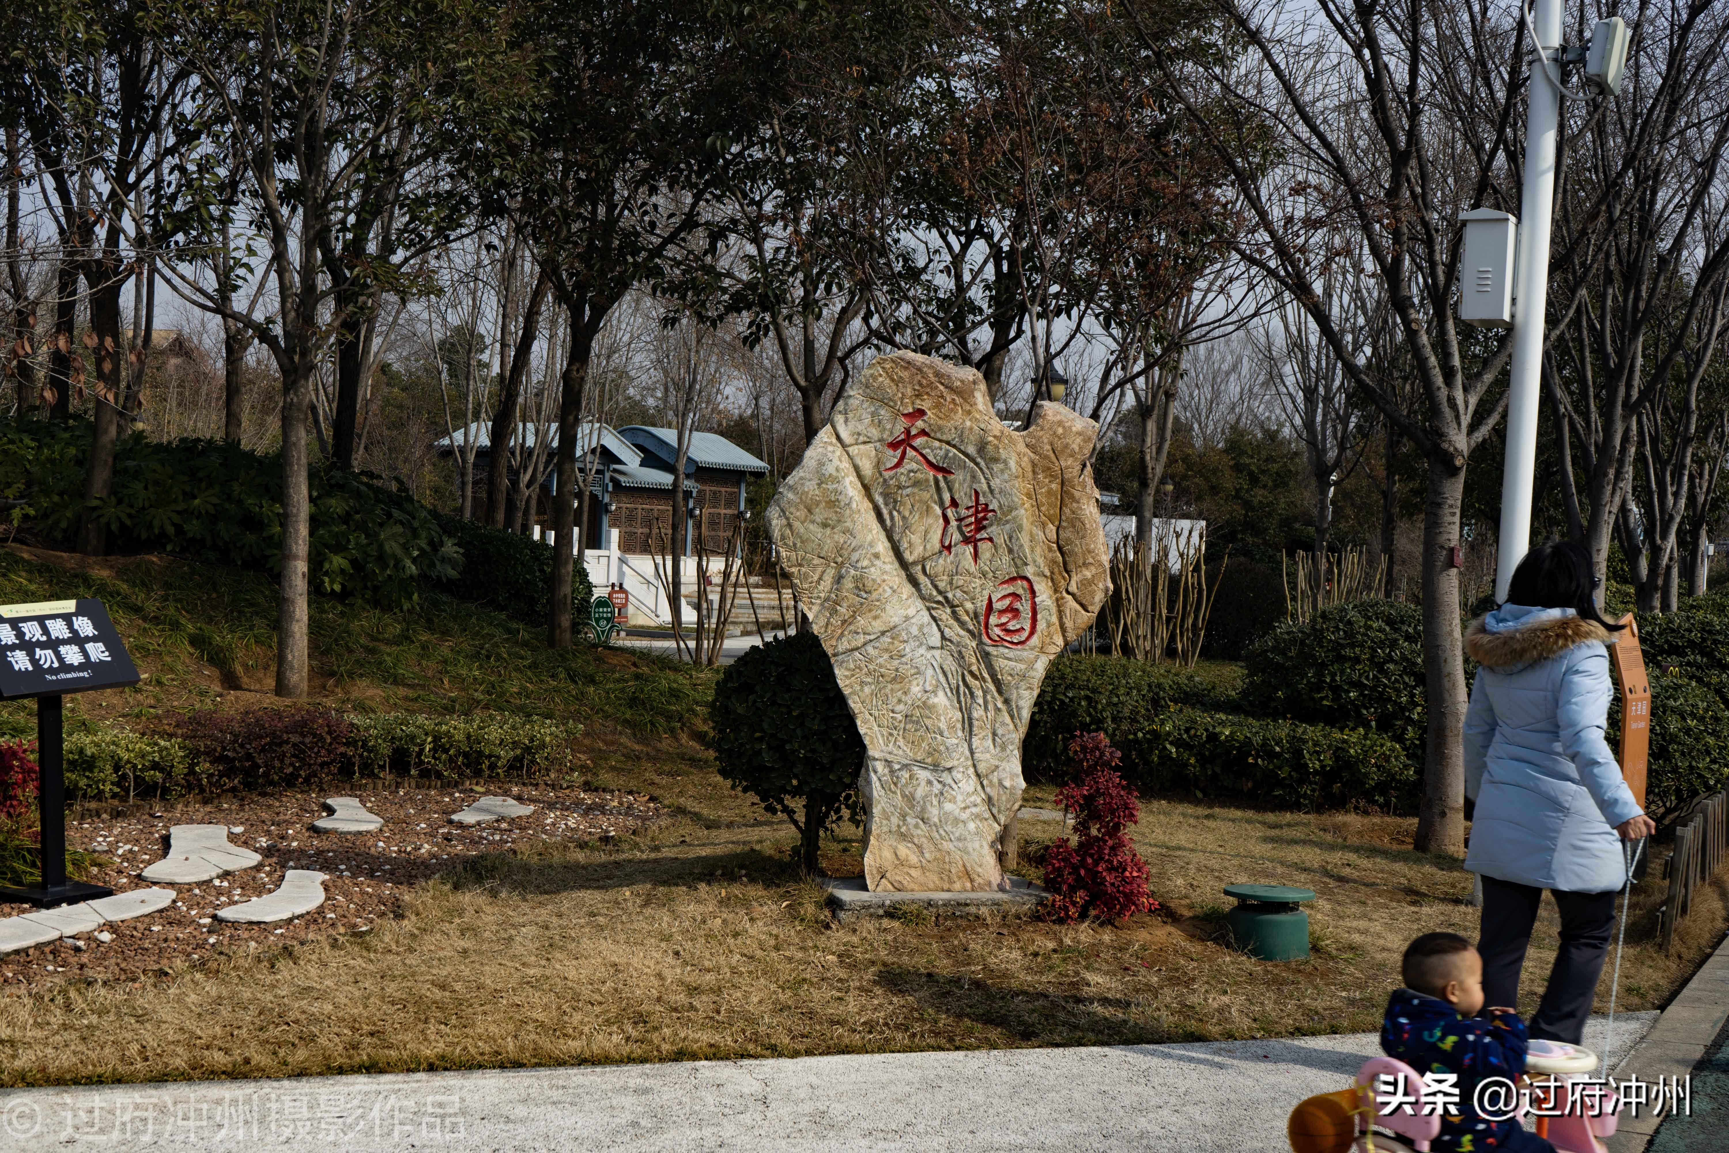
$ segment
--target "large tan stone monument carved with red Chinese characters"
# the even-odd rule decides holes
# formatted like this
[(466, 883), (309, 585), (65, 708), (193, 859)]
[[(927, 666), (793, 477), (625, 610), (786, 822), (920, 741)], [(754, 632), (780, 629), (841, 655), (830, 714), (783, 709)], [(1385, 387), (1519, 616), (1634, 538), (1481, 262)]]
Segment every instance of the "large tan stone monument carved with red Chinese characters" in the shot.
[(769, 505), (864, 738), (873, 892), (1008, 889), (998, 849), (1039, 681), (1110, 591), (1096, 434), (1060, 405), (1015, 432), (977, 372), (896, 353), (847, 385)]

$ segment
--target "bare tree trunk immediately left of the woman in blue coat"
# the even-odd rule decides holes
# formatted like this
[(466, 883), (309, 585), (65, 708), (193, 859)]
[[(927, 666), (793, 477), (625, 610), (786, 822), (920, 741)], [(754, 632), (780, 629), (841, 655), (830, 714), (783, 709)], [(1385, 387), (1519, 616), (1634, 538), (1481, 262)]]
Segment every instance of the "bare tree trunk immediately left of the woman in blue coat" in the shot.
[(1428, 462), (1423, 505), (1423, 700), (1428, 705), (1428, 752), (1416, 849), (1459, 856), (1464, 850), (1464, 638), (1459, 629), (1459, 506), (1464, 453), (1458, 465)]

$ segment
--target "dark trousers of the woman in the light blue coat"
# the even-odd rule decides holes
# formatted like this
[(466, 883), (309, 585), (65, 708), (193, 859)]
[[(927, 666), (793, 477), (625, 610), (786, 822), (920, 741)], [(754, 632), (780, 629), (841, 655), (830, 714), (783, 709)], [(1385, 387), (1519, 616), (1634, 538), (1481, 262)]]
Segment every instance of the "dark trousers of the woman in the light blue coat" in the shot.
[[(1551, 889), (1561, 911), (1561, 949), (1549, 970), (1549, 987), (1530, 1018), (1532, 1041), (1579, 1044), (1591, 1016), (1591, 999), (1603, 975), (1615, 928), (1618, 892), (1561, 892)], [(1537, 921), (1542, 890), (1483, 878), (1483, 930), (1477, 951), (1483, 956), (1483, 1004), (1518, 1008), (1518, 975), (1525, 968), (1530, 927)]]

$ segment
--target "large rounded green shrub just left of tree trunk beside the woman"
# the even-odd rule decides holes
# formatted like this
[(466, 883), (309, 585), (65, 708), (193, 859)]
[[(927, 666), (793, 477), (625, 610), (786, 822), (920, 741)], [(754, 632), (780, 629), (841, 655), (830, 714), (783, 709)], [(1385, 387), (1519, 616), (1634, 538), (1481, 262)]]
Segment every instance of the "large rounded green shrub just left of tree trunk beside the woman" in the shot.
[(1383, 733), (1423, 755), (1423, 610), (1392, 600), (1323, 608), (1285, 622), (1245, 660), (1250, 712)]

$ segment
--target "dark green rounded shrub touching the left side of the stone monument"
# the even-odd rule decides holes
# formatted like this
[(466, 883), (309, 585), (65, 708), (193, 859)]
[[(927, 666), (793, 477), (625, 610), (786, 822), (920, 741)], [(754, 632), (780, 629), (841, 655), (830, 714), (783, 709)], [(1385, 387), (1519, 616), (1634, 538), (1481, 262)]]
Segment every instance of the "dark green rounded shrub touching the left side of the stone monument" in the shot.
[(864, 738), (814, 633), (750, 648), (721, 672), (709, 707), (709, 747), (721, 778), (799, 830), (816, 871), (825, 831), (859, 821)]

